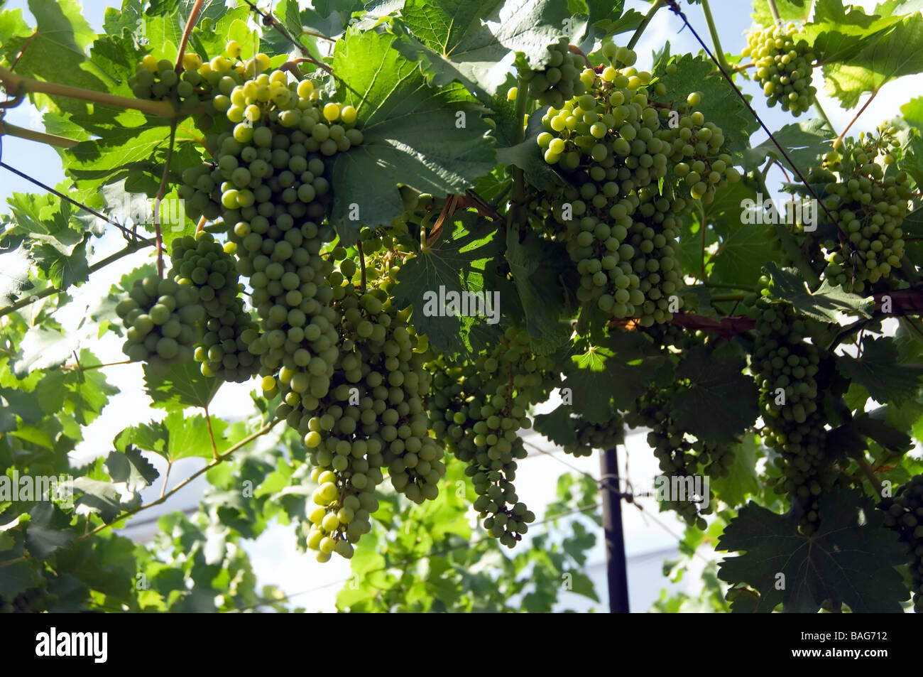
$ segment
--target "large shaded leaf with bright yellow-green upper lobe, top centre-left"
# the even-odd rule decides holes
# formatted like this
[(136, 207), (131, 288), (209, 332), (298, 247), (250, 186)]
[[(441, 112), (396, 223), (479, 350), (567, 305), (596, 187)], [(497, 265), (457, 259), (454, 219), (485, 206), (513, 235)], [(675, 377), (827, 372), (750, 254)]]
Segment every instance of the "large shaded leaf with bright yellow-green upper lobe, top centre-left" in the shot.
[[(390, 224), (403, 212), (399, 182), (436, 196), (461, 194), (495, 165), (490, 127), (471, 95), (461, 85), (429, 88), (419, 66), (390, 48), (392, 40), (351, 33), (334, 48), (338, 97), (355, 106), (365, 139), (333, 161), (334, 223), (356, 216), (355, 205), (354, 228)], [(465, 115), (464, 127), (456, 113)]]

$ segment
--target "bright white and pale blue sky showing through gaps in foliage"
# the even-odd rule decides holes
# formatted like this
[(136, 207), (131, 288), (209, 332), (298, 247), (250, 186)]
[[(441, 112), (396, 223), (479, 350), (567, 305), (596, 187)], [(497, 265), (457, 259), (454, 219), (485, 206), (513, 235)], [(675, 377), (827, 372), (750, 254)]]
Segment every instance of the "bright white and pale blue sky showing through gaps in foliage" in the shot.
[[(98, 0), (87, 0), (83, 3), (85, 17), (88, 18), (90, 25), (94, 29), (100, 30), (104, 9), (109, 4)], [(304, 5), (305, 3), (302, 4)], [(875, 2), (864, 0), (854, 4), (865, 6), (870, 11)], [(739, 54), (746, 45), (744, 32), (750, 27), (749, 3), (741, 0), (713, 0), (711, 5), (725, 52)], [(626, 6), (646, 11), (647, 4), (636, 0), (628, 0)], [(11, 0), (6, 4), (7, 9), (17, 7), (26, 8), (26, 3), (22, 0)], [(707, 41), (708, 30), (701, 16), (701, 11), (695, 6), (688, 6), (686, 7), (686, 13), (695, 29)], [(28, 9), (26, 9), (26, 19), (31, 22)], [(680, 28), (682, 28), (682, 25), (678, 18), (666, 10), (660, 11), (636, 47), (639, 54), (638, 66), (650, 66), (653, 50), (659, 50), (665, 41), (670, 42), (674, 54), (698, 52), (699, 44), (695, 42), (689, 30), (679, 30)], [(815, 79), (815, 85), (820, 84)], [(745, 83), (743, 89), (754, 94), (754, 105), (771, 129), (778, 129), (793, 121), (790, 115), (785, 114), (778, 108), (767, 108), (763, 103), (761, 91), (752, 83)], [(822, 87), (819, 86), (818, 89), (822, 90)], [(876, 100), (869, 105), (869, 108), (853, 127), (851, 133), (857, 134), (861, 129), (874, 129), (882, 120), (896, 115), (900, 105), (911, 98), (912, 92), (919, 91), (923, 91), (923, 76), (912, 76), (885, 85)], [(857, 110), (842, 110), (835, 101), (824, 95), (822, 91), (818, 98), (837, 130), (843, 129)], [(865, 103), (866, 99), (867, 97), (863, 97), (859, 105)], [(802, 115), (798, 119), (809, 119), (810, 115), (813, 115), (813, 111)], [(42, 129), (41, 116), (28, 103), (23, 103), (18, 108), (8, 112), (6, 119), (20, 127)], [(765, 135), (758, 132), (753, 137), (753, 145), (761, 143), (764, 139)], [(47, 184), (54, 185), (63, 178), (59, 156), (54, 150), (40, 143), (5, 137), (3, 139), (3, 158), (6, 163), (13, 165), (26, 174), (40, 178)], [(777, 177), (771, 176), (770, 185), (773, 185), (773, 180), (781, 179), (781, 175)], [(35, 187), (18, 178), (18, 176), (0, 170), (0, 199), (6, 200), (13, 192), (35, 192), (36, 190)], [(0, 212), (3, 211), (6, 210), (0, 210)], [(90, 260), (99, 260), (113, 253), (117, 248), (120, 248), (121, 241), (118, 236), (108, 235), (95, 240)], [(74, 291), (74, 302), (58, 313), (58, 320), (64, 326), (77, 326), (87, 306), (93, 303), (95, 299), (98, 299), (99, 296), (104, 295), (109, 286), (117, 281), (122, 274), (131, 271), (147, 260), (150, 260), (149, 253), (138, 253), (132, 257), (126, 257), (126, 259), (95, 274), (90, 283), (84, 284)], [(0, 267), (2, 267), (2, 262), (0, 262)], [(101, 341), (89, 341), (86, 346), (90, 347), (97, 356), (111, 358), (113, 361), (120, 358), (116, 356), (121, 355), (120, 342), (111, 333), (107, 334)], [(108, 453), (112, 449), (112, 440), (119, 430), (129, 425), (147, 422), (151, 418), (162, 416), (159, 412), (152, 411), (149, 408), (150, 400), (143, 392), (142, 373), (138, 365), (114, 366), (104, 369), (104, 372), (108, 381), (116, 385), (121, 390), (121, 393), (116, 396), (112, 404), (106, 407), (102, 416), (85, 430), (85, 441), (79, 445), (78, 450), (73, 454), (75, 461), (88, 460)], [(239, 416), (240, 403), (249, 403), (247, 393), (252, 387), (252, 385), (233, 383), (225, 385), (210, 406), (211, 413), (218, 417)], [(555, 406), (557, 406), (557, 402), (551, 401), (545, 405), (540, 405), (537, 411), (549, 411)], [(531, 443), (540, 446), (546, 453), (536, 452), (534, 456), (522, 463), (521, 472), (517, 475), (517, 487), (522, 500), (529, 503), (534, 512), (540, 516), (545, 511), (545, 505), (555, 499), (557, 476), (568, 470), (565, 463), (575, 467), (578, 471), (589, 473), (594, 477), (599, 476), (598, 460), (595, 456), (579, 459), (566, 456), (561, 450), (555, 449), (541, 437), (533, 438)], [(644, 441), (643, 433), (630, 437), (624, 451), (627, 453), (621, 454), (622, 476), (627, 477), (636, 488), (651, 487), (653, 477), (659, 474), (659, 471), (653, 459), (653, 453), (650, 452)], [(158, 465), (158, 469), (163, 473), (164, 464), (160, 457), (153, 456), (151, 460)], [(187, 459), (174, 465), (171, 471), (171, 486), (174, 485), (174, 482), (178, 482), (195, 471), (200, 464), (201, 461), (198, 459)], [(190, 485), (184, 493), (177, 494), (174, 497), (176, 502), (168, 502), (165, 508), (173, 510), (177, 507), (194, 505), (201, 489), (201, 484), (194, 483)], [(159, 491), (159, 487), (149, 490), (151, 493), (156, 493), (157, 491)], [(146, 501), (151, 498), (155, 497), (145, 496)], [(657, 505), (653, 499), (641, 498), (638, 499), (637, 504), (643, 510), (640, 510), (638, 506), (628, 505), (625, 508), (624, 515), (626, 548), (629, 554), (629, 562), (633, 562), (629, 563), (629, 596), (632, 600), (634, 611), (645, 611), (653, 599), (657, 597), (659, 588), (666, 585), (665, 579), (660, 578), (658, 574), (660, 569), (659, 560), (656, 556), (652, 560), (650, 555), (661, 551), (674, 551), (677, 534), (682, 532), (683, 525), (670, 514), (657, 514)], [(155, 513), (153, 510), (150, 512)], [(260, 584), (274, 583), (282, 586), (288, 592), (310, 590), (311, 592), (309, 593), (295, 597), (294, 602), (305, 605), (309, 611), (332, 611), (333, 598), (340, 588), (338, 582), (349, 578), (348, 565), (340, 558), (334, 558), (327, 565), (318, 565), (311, 555), (298, 555), (294, 551), (293, 544), (294, 536), (290, 528), (272, 526), (257, 543), (246, 546), (246, 549), (251, 554)], [(600, 595), (605, 595), (605, 571), (602, 568), (602, 562), (604, 561), (602, 543), (599, 542), (590, 558), (588, 574), (591, 575), (596, 583)], [(698, 562), (698, 565), (701, 566), (701, 562)], [(690, 589), (690, 586), (695, 585), (694, 581), (694, 576), (686, 576), (680, 585)], [(581, 607), (583, 603), (580, 599), (572, 601), (573, 608), (585, 608), (585, 606)]]

